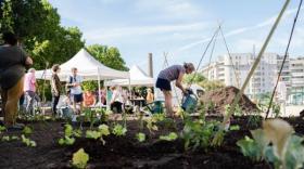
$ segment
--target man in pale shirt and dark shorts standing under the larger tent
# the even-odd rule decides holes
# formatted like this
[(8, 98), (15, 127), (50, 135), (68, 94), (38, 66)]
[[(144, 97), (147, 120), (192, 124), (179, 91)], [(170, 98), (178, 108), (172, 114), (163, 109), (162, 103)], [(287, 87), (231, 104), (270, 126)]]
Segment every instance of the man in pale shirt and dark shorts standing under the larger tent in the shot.
[(69, 89), (69, 93), (71, 93), (72, 101), (73, 101), (73, 109), (75, 113), (77, 113), (77, 109), (76, 109), (77, 103), (80, 105), (80, 112), (83, 112), (83, 107), (84, 107), (81, 82), (83, 82), (83, 78), (77, 75), (77, 68), (73, 67), (72, 75), (66, 79), (66, 86), (67, 86), (67, 89)]

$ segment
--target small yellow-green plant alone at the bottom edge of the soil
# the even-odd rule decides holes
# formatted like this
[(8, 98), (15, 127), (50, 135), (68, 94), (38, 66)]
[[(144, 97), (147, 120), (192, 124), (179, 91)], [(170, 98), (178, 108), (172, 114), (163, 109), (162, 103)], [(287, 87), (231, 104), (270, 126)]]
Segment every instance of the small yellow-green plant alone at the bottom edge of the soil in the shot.
[(84, 169), (89, 160), (89, 155), (84, 151), (84, 148), (78, 150), (73, 154), (72, 165), (77, 169)]

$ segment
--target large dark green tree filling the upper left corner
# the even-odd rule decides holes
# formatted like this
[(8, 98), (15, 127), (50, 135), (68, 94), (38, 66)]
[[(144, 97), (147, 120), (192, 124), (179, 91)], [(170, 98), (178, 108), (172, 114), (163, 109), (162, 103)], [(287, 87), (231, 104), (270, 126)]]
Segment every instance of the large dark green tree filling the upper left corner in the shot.
[(63, 63), (85, 47), (83, 32), (62, 27), (56, 9), (47, 0), (3, 1), (0, 30), (17, 35), (38, 69)]

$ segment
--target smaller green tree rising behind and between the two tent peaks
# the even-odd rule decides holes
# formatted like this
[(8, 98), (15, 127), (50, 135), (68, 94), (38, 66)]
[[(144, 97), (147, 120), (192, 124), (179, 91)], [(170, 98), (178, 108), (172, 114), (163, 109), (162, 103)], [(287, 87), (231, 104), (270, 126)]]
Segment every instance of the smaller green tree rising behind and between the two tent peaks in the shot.
[(124, 58), (121, 56), (119, 50), (115, 47), (106, 47), (101, 44), (92, 44), (87, 47), (88, 52), (98, 61), (107, 67), (128, 70)]

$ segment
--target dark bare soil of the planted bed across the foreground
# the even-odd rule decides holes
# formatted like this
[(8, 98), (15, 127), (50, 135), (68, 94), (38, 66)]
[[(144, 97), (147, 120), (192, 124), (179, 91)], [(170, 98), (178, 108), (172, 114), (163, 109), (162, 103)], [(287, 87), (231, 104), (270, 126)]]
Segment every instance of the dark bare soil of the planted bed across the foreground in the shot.
[[(213, 118), (207, 118), (213, 119)], [(304, 120), (301, 118), (287, 119), (295, 128), (295, 132), (304, 134)], [(175, 142), (159, 141), (160, 134), (176, 131), (160, 125), (159, 132), (148, 135), (144, 143), (139, 143), (135, 134), (139, 132), (138, 121), (128, 121), (126, 136), (110, 135), (105, 138), (105, 145), (100, 141), (76, 139), (72, 146), (60, 146), (58, 140), (63, 135), (60, 121), (31, 122), (34, 128), (31, 140), (37, 147), (26, 147), (21, 141), (0, 142), (0, 168), (71, 168), (73, 153), (84, 148), (89, 154), (88, 168), (271, 168), (266, 162), (253, 162), (244, 157), (236, 142), (244, 135), (250, 135), (249, 117), (235, 117), (232, 125), (239, 125), (239, 131), (230, 131), (225, 136), (221, 147), (207, 151), (185, 152), (181, 140)], [(257, 126), (261, 125), (257, 121)], [(178, 130), (181, 122), (177, 122)], [(149, 132), (144, 129), (144, 132)], [(20, 135), (20, 132), (5, 132)]]

